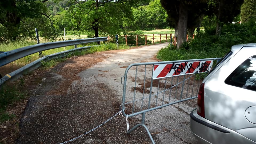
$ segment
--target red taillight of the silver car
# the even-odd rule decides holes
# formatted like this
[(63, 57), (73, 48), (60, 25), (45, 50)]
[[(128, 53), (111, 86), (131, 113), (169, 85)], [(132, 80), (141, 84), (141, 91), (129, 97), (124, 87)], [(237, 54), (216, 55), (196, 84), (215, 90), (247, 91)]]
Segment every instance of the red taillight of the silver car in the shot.
[(201, 83), (200, 89), (198, 91), (197, 98), (197, 114), (201, 117), (205, 117), (205, 91), (204, 91), (205, 83)]

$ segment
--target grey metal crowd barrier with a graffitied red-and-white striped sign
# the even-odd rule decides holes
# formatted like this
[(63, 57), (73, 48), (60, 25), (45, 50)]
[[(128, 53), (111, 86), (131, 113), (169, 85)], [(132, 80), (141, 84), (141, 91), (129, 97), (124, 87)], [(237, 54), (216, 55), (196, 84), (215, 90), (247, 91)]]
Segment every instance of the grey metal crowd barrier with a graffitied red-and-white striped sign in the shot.
[[(135, 63), (127, 67), (122, 77), (122, 113), (126, 117), (142, 114), (141, 123), (152, 143), (155, 143), (145, 123), (145, 113), (197, 98), (204, 76), (220, 58), (167, 62)], [(127, 102), (128, 101), (128, 102)]]

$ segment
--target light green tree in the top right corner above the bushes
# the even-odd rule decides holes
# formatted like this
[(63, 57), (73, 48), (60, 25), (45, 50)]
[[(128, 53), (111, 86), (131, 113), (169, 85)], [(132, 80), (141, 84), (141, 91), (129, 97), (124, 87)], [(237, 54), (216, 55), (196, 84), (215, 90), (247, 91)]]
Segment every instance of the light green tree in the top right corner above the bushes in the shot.
[(240, 21), (248, 22), (251, 18), (256, 18), (256, 0), (245, 0), (241, 6)]

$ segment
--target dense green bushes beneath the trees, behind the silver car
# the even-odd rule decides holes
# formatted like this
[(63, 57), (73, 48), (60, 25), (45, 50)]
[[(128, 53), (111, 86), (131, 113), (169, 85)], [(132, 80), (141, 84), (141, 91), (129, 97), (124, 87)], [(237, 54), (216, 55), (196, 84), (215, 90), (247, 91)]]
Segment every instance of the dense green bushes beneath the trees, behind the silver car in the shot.
[(241, 43), (253, 43), (256, 39), (255, 20), (247, 23), (225, 25), (222, 35), (199, 33), (189, 43), (184, 43), (182, 48), (176, 50), (174, 46), (159, 50), (157, 58), (162, 61), (182, 59), (218, 58), (223, 57), (231, 46)]

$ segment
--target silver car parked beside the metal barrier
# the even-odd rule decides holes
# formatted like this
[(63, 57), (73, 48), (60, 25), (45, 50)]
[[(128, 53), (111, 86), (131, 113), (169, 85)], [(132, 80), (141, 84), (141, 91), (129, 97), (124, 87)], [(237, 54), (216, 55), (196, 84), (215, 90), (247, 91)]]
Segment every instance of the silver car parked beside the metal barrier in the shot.
[(256, 143), (256, 43), (232, 46), (202, 81), (190, 129), (200, 143)]

